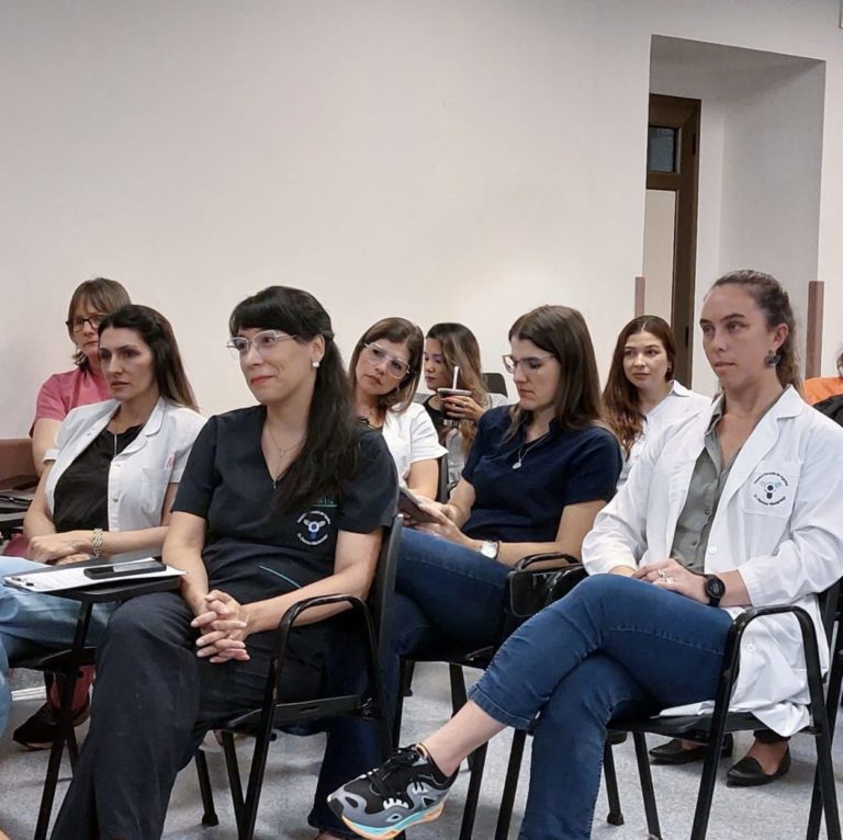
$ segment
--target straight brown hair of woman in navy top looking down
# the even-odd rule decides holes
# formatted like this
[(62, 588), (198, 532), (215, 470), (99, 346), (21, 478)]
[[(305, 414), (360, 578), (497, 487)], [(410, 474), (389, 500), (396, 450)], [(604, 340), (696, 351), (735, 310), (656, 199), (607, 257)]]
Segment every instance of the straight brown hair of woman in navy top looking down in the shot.
[[(603, 418), (599, 376), (585, 318), (569, 306), (539, 306), (512, 326), (509, 340), (514, 338), (532, 341), (559, 360), (562, 371), (553, 406), (557, 422), (564, 429), (599, 425)], [(507, 436), (513, 436), (525, 420), (530, 422), (531, 413), (517, 404), (513, 406)]]

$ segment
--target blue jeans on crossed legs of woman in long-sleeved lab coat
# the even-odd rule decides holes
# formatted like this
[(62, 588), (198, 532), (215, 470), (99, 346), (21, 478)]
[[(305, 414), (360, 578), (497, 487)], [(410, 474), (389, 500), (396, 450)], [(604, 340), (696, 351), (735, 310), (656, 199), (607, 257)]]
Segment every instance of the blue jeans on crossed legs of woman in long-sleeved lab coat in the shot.
[(650, 583), (599, 575), (521, 625), (470, 695), (502, 724), (535, 726), (520, 840), (586, 840), (606, 724), (710, 700), (731, 626)]

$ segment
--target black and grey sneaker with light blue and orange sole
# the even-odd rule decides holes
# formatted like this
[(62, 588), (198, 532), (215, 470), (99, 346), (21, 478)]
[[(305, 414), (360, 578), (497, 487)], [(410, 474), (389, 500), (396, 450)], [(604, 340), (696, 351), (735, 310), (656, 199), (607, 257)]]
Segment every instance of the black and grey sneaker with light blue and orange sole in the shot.
[(419, 822), (436, 819), (457, 773), (445, 775), (422, 745), (400, 749), (328, 796), (331, 810), (370, 840), (389, 840)]

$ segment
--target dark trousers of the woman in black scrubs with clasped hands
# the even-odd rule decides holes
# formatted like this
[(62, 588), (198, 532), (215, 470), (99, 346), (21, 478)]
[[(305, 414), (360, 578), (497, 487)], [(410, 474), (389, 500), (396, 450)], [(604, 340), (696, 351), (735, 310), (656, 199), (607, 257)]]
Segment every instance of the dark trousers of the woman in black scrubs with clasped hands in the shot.
[[(248, 638), (249, 661), (212, 665), (195, 655), (192, 617), (182, 599), (169, 592), (136, 598), (112, 616), (98, 650), (91, 727), (54, 840), (159, 838), (176, 774), (190, 762), (202, 734), (262, 701), (271, 634)], [(315, 632), (329, 644), (324, 657), (285, 660), (282, 700), (362, 688), (362, 646), (350, 626), (342, 615), (293, 631), (302, 638)], [(351, 838), (326, 797), (379, 763), (375, 724), (338, 718), (325, 728), (327, 746), (308, 822)], [(196, 795), (196, 819), (199, 808)]]

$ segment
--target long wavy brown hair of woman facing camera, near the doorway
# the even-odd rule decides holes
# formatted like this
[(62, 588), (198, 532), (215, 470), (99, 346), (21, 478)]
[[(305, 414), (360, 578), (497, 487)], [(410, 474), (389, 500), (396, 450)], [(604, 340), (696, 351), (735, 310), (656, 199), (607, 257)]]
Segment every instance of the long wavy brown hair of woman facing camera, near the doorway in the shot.
[(644, 430), (644, 417), (641, 413), (641, 395), (623, 371), (623, 350), (630, 337), (641, 332), (655, 336), (667, 354), (665, 382), (673, 378), (673, 371), (676, 367), (676, 340), (671, 326), (664, 318), (657, 315), (640, 315), (620, 331), (611, 355), (609, 378), (603, 389), (603, 405), (606, 409), (606, 422), (615, 432), (627, 455)]

